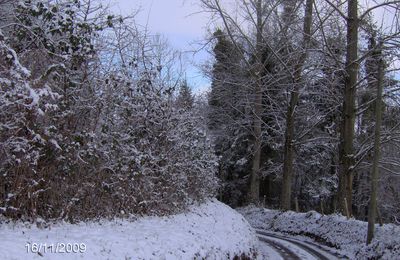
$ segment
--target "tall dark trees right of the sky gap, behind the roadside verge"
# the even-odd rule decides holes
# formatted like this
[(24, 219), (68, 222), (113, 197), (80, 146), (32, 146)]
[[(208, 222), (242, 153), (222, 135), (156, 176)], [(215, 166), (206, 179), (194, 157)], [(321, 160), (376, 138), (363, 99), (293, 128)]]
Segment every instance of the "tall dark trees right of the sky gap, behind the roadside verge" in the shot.
[(365, 220), (377, 191), (398, 223), (399, 9), (362, 4), (202, 1), (220, 25), (207, 72), (223, 201)]

